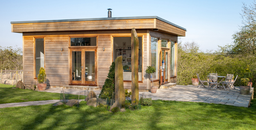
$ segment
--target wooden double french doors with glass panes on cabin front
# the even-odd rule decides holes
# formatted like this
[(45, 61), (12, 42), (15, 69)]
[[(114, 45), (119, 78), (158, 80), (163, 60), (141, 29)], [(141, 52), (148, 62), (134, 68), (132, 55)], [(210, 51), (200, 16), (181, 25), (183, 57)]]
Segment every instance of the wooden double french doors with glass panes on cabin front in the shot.
[(70, 49), (70, 83), (97, 85), (97, 49)]

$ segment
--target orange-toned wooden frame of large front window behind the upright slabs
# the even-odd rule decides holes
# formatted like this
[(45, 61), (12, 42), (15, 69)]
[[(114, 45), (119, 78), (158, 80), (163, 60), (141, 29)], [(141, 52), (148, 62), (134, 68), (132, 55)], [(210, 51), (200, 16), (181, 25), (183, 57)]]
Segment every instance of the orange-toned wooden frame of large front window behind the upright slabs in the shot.
[[(143, 65), (143, 63), (144, 63), (144, 61), (143, 61), (143, 59), (144, 59), (144, 34), (137, 34), (138, 35), (138, 37), (142, 37), (142, 76), (141, 76), (141, 81), (138, 81), (139, 83), (143, 83), (143, 80), (144, 80), (144, 77), (143, 77), (143, 75), (144, 75), (144, 65)], [(111, 35), (111, 57), (112, 57), (112, 62), (113, 62), (113, 60), (114, 60), (114, 54), (113, 54), (113, 51), (114, 51), (114, 37), (131, 37), (131, 33), (130, 34), (122, 34), (122, 35), (119, 35), (119, 34), (113, 34), (113, 35)], [(123, 82), (131, 82), (131, 81), (127, 81), (127, 80), (124, 80)]]

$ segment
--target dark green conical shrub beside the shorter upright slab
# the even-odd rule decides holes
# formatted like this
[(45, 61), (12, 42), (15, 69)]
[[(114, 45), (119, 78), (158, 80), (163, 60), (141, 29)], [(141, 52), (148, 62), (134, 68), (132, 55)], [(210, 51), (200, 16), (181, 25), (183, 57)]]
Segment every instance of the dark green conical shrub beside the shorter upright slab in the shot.
[(112, 62), (107, 79), (104, 82), (104, 85), (102, 86), (101, 93), (99, 94), (99, 97), (102, 97), (101, 95), (107, 93), (107, 95), (112, 98), (112, 94), (115, 91), (115, 62)]

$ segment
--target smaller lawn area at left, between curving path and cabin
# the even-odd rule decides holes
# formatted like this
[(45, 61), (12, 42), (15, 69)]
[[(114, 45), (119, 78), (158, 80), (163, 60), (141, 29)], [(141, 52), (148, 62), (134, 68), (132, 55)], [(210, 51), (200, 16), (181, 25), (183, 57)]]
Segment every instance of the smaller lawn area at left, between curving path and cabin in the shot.
[[(0, 104), (17, 103), (40, 100), (56, 100), (60, 98), (59, 93), (38, 92), (33, 90), (12, 89), (12, 85), (0, 84)], [(69, 94), (69, 99), (78, 99), (78, 95)], [(84, 99), (84, 96), (79, 96)]]

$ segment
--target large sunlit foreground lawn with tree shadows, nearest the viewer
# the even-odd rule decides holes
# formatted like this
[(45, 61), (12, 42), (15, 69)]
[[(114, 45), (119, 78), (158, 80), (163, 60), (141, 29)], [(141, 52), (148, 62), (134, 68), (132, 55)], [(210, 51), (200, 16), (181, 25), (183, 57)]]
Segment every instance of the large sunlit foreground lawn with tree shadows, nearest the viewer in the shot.
[(153, 101), (139, 111), (108, 112), (82, 101), (66, 105), (0, 109), (0, 129), (35, 130), (250, 130), (256, 125), (256, 100), (251, 108), (221, 104)]

